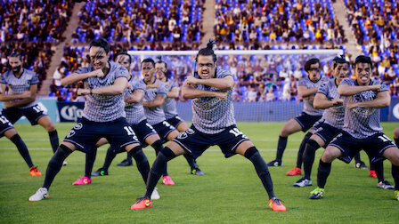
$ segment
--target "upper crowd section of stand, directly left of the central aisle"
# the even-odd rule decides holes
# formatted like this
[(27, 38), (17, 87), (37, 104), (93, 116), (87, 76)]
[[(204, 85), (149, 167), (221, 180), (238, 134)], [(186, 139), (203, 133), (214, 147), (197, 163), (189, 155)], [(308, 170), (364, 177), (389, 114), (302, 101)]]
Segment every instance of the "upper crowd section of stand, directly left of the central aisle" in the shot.
[(202, 1), (194, 0), (87, 2), (79, 13), (79, 26), (73, 36), (78, 42), (98, 37), (129, 44), (199, 42), (202, 5)]

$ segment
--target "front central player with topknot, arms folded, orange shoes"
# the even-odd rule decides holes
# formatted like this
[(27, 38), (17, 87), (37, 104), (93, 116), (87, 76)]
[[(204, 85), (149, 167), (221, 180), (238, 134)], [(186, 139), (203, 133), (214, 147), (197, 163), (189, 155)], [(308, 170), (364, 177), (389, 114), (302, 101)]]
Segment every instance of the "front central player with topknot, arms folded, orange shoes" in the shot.
[(182, 87), (183, 97), (192, 99), (192, 125), (159, 152), (152, 164), (147, 191), (137, 199), (132, 210), (152, 206), (151, 192), (157, 185), (167, 161), (182, 154), (197, 158), (207, 148), (217, 145), (225, 157), (240, 154), (254, 164), (257, 175), (264, 184), (269, 196), (269, 206), (273, 211), (283, 212), (286, 208), (274, 196), (273, 182), (265, 160), (254, 144), (236, 127), (232, 107), (232, 75), (216, 68), (216, 54), (210, 41), (206, 48), (199, 50), (196, 58), (198, 74), (187, 76)]

